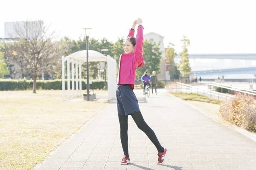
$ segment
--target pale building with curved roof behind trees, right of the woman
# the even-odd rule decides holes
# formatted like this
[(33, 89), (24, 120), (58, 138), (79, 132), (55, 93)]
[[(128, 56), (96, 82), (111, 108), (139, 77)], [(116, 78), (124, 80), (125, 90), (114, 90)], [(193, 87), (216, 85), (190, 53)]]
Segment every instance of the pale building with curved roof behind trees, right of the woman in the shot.
[[(148, 41), (152, 41), (153, 43), (160, 42), (160, 52), (162, 52), (162, 59), (160, 63), (160, 73), (157, 74), (158, 80), (170, 80), (169, 71), (166, 71), (166, 62), (165, 62), (165, 48), (163, 44), (164, 36), (157, 34), (155, 32), (149, 32), (148, 34), (144, 34), (144, 39)], [(152, 73), (149, 73), (152, 74)]]

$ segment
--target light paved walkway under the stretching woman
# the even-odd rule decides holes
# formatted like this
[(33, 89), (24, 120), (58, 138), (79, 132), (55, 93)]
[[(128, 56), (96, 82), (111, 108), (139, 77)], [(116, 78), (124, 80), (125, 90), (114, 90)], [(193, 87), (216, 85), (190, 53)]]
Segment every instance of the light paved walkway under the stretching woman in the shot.
[(256, 142), (209, 119), (169, 96), (144, 98), (135, 90), (145, 121), (169, 149), (168, 160), (157, 165), (157, 150), (129, 117), (131, 164), (123, 157), (116, 103), (113, 101), (58, 149), (39, 170), (255, 170)]

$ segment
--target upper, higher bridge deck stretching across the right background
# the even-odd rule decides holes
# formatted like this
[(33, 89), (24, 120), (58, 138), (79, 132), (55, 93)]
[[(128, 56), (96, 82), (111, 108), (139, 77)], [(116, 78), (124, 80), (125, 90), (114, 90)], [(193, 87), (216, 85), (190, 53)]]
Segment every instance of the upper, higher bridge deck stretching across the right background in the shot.
[[(175, 59), (180, 59), (176, 56)], [(256, 60), (256, 54), (189, 54), (189, 59), (246, 59)]]

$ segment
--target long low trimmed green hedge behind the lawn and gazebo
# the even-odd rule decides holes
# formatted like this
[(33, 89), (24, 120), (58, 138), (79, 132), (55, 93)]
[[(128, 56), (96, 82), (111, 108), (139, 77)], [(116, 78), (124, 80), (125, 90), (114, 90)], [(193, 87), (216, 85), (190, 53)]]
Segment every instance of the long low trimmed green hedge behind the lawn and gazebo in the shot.
[[(37, 80), (36, 86), (38, 90), (62, 90), (62, 80)], [(86, 79), (82, 79), (82, 89), (86, 89)], [(108, 82), (107, 82), (108, 85)], [(78, 84), (79, 86), (79, 84)], [(13, 91), (13, 90), (31, 90), (33, 87), (33, 80), (25, 79), (0, 79), (0, 91)], [(76, 81), (75, 81), (76, 87)], [(72, 82), (70, 81), (70, 89)], [(104, 81), (93, 80), (90, 84), (90, 89), (103, 89)], [(65, 80), (65, 89), (67, 90), (67, 80)]]

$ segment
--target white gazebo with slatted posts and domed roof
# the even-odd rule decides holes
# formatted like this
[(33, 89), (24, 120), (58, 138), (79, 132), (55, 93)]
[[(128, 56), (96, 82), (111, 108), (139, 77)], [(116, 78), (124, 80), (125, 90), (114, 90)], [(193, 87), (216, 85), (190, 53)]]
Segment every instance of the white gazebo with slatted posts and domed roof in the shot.
[[(63, 100), (65, 100), (65, 62), (67, 61), (67, 98), (70, 99), (70, 62), (71, 62), (71, 79), (72, 79), (72, 98), (75, 96), (75, 78), (74, 64), (76, 64), (76, 96), (80, 91), (82, 95), (82, 71), (83, 62), (87, 61), (86, 50), (77, 51), (67, 57), (62, 56), (62, 92)], [(88, 51), (89, 62), (107, 62), (108, 63), (108, 100), (111, 100), (116, 95), (116, 60), (112, 57), (105, 56), (98, 51)], [(78, 74), (79, 70), (79, 74)], [(78, 78), (79, 75), (79, 78)], [(79, 89), (78, 89), (79, 83)]]

